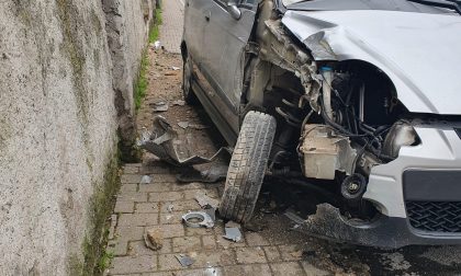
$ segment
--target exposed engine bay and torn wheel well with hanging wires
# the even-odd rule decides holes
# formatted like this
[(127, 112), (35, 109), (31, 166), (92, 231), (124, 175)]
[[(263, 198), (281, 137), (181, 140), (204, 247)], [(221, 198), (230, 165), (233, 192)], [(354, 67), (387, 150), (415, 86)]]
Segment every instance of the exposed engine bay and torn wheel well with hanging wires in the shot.
[[(269, 175), (302, 179), (348, 218), (376, 214), (362, 196), (371, 169), (420, 141), (418, 122), (379, 68), (360, 60), (319, 60), (262, 1), (246, 49), (241, 104), (278, 120)], [(327, 195), (327, 196), (325, 196)]]

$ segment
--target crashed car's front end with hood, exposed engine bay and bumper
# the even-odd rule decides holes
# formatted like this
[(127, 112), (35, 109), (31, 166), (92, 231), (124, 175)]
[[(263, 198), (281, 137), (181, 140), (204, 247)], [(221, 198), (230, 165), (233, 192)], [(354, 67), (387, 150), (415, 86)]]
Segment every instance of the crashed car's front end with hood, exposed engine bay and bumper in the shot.
[(271, 11), (262, 1), (244, 101), (284, 122), (269, 173), (293, 174), (286, 137), (300, 131), (301, 175), (336, 195), (303, 229), (381, 248), (460, 244), (461, 18)]

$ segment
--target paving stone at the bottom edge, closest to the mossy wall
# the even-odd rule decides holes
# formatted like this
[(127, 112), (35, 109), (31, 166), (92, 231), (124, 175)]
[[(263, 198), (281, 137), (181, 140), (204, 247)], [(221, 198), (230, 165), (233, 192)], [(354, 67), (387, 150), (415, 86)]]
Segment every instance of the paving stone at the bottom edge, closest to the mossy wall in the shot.
[(157, 269), (157, 257), (147, 255), (114, 257), (112, 264), (113, 268), (110, 271), (113, 274), (154, 272)]

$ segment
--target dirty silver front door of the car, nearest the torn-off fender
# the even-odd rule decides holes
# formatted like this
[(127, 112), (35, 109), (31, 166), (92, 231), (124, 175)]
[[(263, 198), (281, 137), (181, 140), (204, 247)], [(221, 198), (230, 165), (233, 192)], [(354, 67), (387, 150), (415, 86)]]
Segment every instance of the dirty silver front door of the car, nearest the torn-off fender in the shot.
[[(239, 1), (239, 20), (227, 11), (228, 0), (207, 0), (204, 9), (203, 56), (200, 71), (207, 84), (210, 101), (234, 134), (239, 131), (239, 105), (244, 82), (245, 46), (255, 23), (256, 0)], [(229, 140), (229, 139), (228, 139)]]

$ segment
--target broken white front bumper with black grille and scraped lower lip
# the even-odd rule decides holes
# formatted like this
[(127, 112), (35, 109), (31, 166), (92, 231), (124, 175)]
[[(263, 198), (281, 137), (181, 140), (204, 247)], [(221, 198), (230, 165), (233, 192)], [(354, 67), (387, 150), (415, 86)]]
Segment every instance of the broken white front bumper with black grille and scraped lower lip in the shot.
[(446, 124), (415, 130), (418, 146), (403, 147), (397, 159), (371, 171), (363, 199), (380, 212), (373, 221), (348, 220), (321, 205), (306, 230), (379, 248), (461, 244), (461, 137)]

